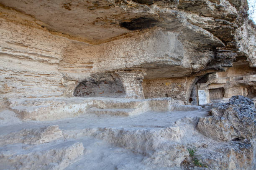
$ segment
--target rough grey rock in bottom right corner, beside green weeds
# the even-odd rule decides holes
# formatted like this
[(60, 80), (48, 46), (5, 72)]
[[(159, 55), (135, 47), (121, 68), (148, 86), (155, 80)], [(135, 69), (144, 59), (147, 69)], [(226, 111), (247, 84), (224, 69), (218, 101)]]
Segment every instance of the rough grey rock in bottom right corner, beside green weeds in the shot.
[(255, 140), (232, 141), (213, 150), (200, 148), (196, 154), (201, 163), (207, 165), (205, 170), (253, 170)]

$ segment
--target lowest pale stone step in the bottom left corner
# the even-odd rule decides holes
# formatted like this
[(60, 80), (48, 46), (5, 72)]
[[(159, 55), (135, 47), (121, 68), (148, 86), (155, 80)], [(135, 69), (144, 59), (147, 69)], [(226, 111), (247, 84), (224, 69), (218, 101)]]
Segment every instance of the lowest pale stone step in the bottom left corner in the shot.
[(8, 145), (0, 147), (0, 169), (63, 170), (83, 153), (83, 144), (76, 141)]

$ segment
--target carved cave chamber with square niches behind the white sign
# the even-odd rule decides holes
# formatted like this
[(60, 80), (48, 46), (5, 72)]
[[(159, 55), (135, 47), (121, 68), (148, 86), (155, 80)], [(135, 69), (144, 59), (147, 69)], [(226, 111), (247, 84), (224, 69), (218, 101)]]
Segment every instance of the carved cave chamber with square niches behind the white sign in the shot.
[[(255, 102), (256, 69), (238, 57), (225, 72), (216, 72), (199, 78), (193, 87), (193, 101), (197, 101), (197, 90), (205, 90), (207, 103), (226, 100), (234, 95), (251, 98)], [(191, 95), (191, 97), (192, 97)], [(195, 103), (194, 103), (195, 105)]]

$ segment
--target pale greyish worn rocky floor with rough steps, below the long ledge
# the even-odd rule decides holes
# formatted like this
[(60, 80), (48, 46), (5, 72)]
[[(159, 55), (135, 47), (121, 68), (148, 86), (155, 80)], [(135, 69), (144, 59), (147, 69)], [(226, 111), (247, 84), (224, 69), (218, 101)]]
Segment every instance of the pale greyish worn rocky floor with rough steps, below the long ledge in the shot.
[[(254, 139), (223, 142), (207, 138), (197, 131), (197, 123), (208, 115), (210, 107), (175, 107), (133, 115), (111, 114), (113, 110), (90, 111), (47, 121), (21, 121), (11, 108), (2, 110), (0, 169), (255, 168)], [(92, 108), (89, 110), (98, 109)], [(122, 113), (122, 109), (114, 112)], [(194, 150), (195, 155), (188, 149)]]

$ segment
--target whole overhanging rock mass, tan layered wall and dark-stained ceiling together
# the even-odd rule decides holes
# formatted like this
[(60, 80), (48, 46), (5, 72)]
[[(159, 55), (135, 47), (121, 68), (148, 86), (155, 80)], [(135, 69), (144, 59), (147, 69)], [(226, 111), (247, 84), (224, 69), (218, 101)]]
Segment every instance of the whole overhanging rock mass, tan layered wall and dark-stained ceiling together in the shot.
[[(191, 91), (187, 86), (194, 84), (189, 83), (190, 77), (196, 79), (225, 71), (236, 56), (244, 57), (249, 67), (254, 67), (255, 29), (247, 22), (244, 1), (56, 0), (49, 4), (46, 0), (1, 0), (0, 3), (3, 4), (1, 100), (70, 97), (74, 93), (84, 97), (134, 98), (173, 97), (172, 94), (180, 93), (178, 99), (187, 102)], [(144, 78), (147, 90), (143, 92), (141, 82), (135, 83), (136, 95), (128, 90), (131, 83), (124, 80), (127, 76), (122, 78), (128, 72), (116, 79), (123, 79), (120, 84), (113, 83), (112, 87), (103, 81), (97, 89), (96, 84), (102, 83), (98, 80), (100, 75), (111, 75), (118, 70), (138, 70), (138, 75), (128, 77), (135, 82), (137, 77), (140, 81)], [(144, 71), (144, 76), (139, 70)], [(177, 77), (189, 80), (186, 87), (166, 92), (176, 85)], [(77, 93), (75, 88), (88, 80), (99, 82)], [(153, 92), (155, 85), (166, 83), (168, 86), (163, 90)], [(126, 90), (121, 86), (127, 87)], [(121, 91), (126, 94), (118, 94)]]

